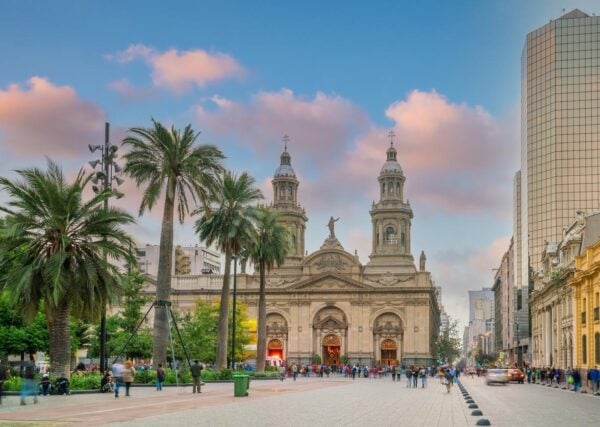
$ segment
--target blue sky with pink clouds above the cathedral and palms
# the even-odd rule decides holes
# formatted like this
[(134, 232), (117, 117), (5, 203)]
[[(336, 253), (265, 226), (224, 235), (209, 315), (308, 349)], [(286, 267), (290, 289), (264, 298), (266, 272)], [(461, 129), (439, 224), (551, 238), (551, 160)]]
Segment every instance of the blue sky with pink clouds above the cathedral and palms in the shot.
[[(344, 248), (368, 262), (369, 209), (394, 130), (424, 250), (462, 328), (469, 289), (491, 287), (512, 235), (525, 36), (594, 1), (5, 0), (0, 13), (0, 175), (70, 175), (151, 118), (216, 144), (272, 200), (284, 134), (309, 217), (307, 249), (341, 217)], [(126, 180), (117, 203), (137, 212)], [(0, 203), (6, 198), (0, 194)], [(157, 244), (160, 206), (132, 233)], [(176, 243), (195, 244), (193, 220)]]

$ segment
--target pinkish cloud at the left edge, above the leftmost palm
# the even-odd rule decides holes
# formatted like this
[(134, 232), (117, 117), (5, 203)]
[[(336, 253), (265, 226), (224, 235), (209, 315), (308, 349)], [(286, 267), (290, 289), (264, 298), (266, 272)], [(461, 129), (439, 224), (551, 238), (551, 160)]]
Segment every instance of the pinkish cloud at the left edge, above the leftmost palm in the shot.
[(73, 158), (102, 140), (104, 113), (70, 86), (32, 77), (0, 89), (0, 143), (19, 156)]

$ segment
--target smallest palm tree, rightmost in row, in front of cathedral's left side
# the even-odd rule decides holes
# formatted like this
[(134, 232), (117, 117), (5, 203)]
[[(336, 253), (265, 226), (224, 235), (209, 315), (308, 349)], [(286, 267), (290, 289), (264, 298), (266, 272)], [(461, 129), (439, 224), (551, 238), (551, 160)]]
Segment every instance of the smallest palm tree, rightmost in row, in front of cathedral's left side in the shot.
[(266, 273), (275, 264), (280, 266), (288, 251), (289, 233), (279, 224), (279, 214), (269, 208), (260, 208), (256, 219), (256, 240), (250, 246), (250, 258), (258, 267), (260, 292), (258, 297), (258, 343), (256, 372), (265, 371), (267, 355), (267, 303), (265, 296)]

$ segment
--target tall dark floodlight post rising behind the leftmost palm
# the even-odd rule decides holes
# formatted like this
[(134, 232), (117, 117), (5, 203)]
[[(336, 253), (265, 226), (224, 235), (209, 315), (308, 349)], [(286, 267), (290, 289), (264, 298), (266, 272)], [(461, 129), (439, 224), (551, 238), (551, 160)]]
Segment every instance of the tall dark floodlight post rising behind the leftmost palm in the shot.
[[(100, 171), (96, 172), (92, 177), (92, 190), (98, 194), (102, 191), (112, 190), (112, 181), (115, 181), (117, 185), (121, 185), (123, 180), (117, 176), (121, 172), (121, 168), (115, 160), (117, 158), (117, 151), (119, 147), (111, 145), (109, 140), (110, 134), (110, 123), (104, 124), (104, 145), (88, 145), (91, 153), (98, 150), (101, 151), (99, 160), (92, 160), (89, 165), (96, 169), (96, 166), (100, 165)], [(96, 184), (102, 182), (102, 189)], [(123, 193), (114, 191), (114, 195), (120, 199), (123, 197)], [(108, 199), (104, 200), (104, 209), (108, 210)], [(107, 357), (106, 357), (106, 304), (102, 307), (102, 317), (100, 319), (100, 371), (106, 372), (107, 369)]]

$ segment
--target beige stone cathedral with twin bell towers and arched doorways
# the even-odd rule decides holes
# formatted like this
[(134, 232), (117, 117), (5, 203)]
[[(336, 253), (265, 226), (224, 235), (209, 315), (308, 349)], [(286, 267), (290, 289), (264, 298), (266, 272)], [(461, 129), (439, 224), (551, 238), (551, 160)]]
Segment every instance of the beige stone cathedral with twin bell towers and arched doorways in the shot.
[[(272, 180), (273, 208), (290, 231), (291, 250), (267, 278), (268, 356), (290, 363), (310, 363), (315, 354), (328, 364), (344, 356), (368, 365), (434, 361), (437, 292), (424, 253), (418, 270), (411, 254), (413, 212), (396, 155), (392, 144), (378, 177), (379, 201), (370, 210), (372, 252), (363, 265), (337, 239), (334, 217), (320, 249), (306, 252), (308, 217), (298, 203), (300, 183), (286, 147)], [(189, 310), (198, 298), (218, 298), (221, 283), (218, 275), (175, 276), (173, 302)], [(239, 273), (236, 284), (238, 300), (257, 317), (257, 275)], [(151, 283), (146, 292), (153, 292)]]

